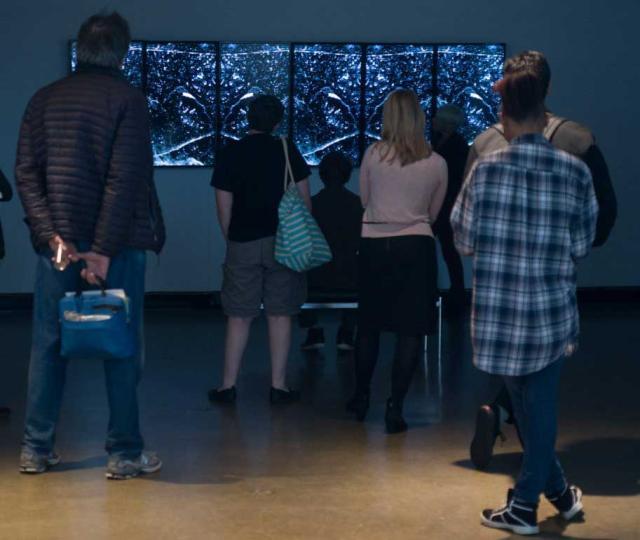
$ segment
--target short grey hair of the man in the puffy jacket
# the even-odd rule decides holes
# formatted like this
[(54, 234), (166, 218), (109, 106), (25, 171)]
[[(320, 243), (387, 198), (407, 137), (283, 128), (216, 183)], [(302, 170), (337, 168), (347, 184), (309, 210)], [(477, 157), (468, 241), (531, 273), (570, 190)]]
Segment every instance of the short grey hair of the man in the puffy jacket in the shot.
[(119, 69), (130, 43), (129, 23), (122, 15), (92, 15), (78, 32), (78, 63)]

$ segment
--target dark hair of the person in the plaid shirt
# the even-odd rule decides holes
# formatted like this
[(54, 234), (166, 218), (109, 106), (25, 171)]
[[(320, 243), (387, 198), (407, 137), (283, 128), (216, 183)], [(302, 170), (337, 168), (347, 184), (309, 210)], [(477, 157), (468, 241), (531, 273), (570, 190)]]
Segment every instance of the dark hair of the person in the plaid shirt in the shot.
[(502, 98), (503, 115), (516, 122), (544, 116), (544, 86), (532, 70), (509, 73), (494, 88)]

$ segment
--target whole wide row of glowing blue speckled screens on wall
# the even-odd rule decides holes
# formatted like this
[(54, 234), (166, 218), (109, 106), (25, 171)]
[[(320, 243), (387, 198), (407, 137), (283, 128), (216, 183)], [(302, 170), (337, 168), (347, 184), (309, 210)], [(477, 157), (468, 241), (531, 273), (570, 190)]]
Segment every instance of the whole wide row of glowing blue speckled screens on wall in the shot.
[[(75, 42), (70, 53), (75, 70)], [(220, 144), (246, 133), (248, 103), (261, 93), (282, 100), (279, 132), (309, 165), (335, 150), (358, 164), (380, 137), (384, 100), (401, 87), (417, 93), (427, 136), (434, 109), (453, 103), (471, 143), (497, 120), (492, 86), (503, 62), (501, 44), (133, 41), (123, 72), (147, 96), (156, 166), (213, 165)]]

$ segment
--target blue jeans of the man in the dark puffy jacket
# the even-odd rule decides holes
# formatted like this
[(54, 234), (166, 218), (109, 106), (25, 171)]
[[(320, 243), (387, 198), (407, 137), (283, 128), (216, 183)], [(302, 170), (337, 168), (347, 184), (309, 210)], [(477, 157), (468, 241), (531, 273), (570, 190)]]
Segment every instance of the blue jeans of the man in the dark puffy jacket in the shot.
[[(88, 246), (79, 245), (78, 249)], [(124, 289), (129, 296), (132, 324), (139, 335), (134, 358), (104, 362), (109, 401), (105, 448), (110, 455), (126, 459), (138, 457), (144, 447), (138, 424), (137, 386), (144, 363), (145, 268), (144, 251), (125, 250), (111, 260), (107, 276), (109, 288)], [(77, 290), (82, 283), (78, 264), (60, 272), (51, 264), (51, 253), (38, 256), (23, 447), (39, 454), (53, 450), (67, 371), (67, 359), (60, 356), (58, 302), (65, 292)]]

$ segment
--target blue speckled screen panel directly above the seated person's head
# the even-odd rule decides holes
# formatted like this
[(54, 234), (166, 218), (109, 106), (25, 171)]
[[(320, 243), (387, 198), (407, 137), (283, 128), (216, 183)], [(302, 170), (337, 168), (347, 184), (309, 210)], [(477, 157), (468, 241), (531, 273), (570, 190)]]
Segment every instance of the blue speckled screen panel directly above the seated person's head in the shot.
[(294, 47), (294, 141), (309, 165), (332, 151), (360, 159), (360, 45)]

